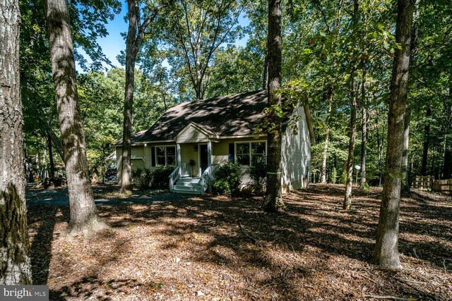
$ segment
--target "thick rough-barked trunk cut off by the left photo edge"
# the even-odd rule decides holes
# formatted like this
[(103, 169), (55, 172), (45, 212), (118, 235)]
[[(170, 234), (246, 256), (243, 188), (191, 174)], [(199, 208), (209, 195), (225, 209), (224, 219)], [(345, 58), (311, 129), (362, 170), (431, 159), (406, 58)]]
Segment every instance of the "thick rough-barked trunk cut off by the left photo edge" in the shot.
[(0, 285), (24, 285), (32, 278), (23, 174), (19, 1), (1, 0), (0, 5)]

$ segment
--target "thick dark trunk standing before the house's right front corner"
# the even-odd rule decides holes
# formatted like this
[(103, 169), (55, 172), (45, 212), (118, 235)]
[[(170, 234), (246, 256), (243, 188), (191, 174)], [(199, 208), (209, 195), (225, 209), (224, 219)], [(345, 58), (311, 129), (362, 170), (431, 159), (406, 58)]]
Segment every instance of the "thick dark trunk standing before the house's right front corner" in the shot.
[[(275, 94), (281, 86), (281, 0), (268, 1), (268, 106), (281, 106), (280, 94)], [(275, 212), (284, 207), (281, 191), (281, 118), (269, 113), (268, 121), (275, 127), (267, 133), (267, 188), (263, 210)]]

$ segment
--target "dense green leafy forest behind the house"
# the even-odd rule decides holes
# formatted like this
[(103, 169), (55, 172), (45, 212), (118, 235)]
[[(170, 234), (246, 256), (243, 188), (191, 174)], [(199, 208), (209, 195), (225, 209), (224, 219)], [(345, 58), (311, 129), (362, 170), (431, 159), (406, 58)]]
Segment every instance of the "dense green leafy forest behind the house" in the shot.
[[(443, 0), (418, 2), (408, 87), (408, 174), (452, 178), (452, 8)], [(20, 2), (20, 77), (25, 156), (49, 175), (51, 166), (61, 167), (62, 161), (46, 20), (36, 9), (42, 5), (40, 0)], [(83, 67), (78, 90), (88, 163), (101, 173), (112, 152), (109, 145), (121, 139), (125, 80), (124, 69), (105, 68), (109, 62), (96, 38), (107, 35), (105, 24), (120, 6), (114, 0), (71, 1), (70, 9), (76, 49), (93, 61), (76, 53)], [(283, 88), (312, 111), (313, 182), (345, 182), (355, 112), (353, 162), (365, 171), (359, 181), (382, 183), (388, 92), (398, 47), (395, 7), (393, 1), (370, 0), (283, 3)], [(239, 26), (239, 16), (246, 16), (249, 25)], [(179, 1), (160, 13), (137, 56), (133, 133), (178, 102), (262, 89), (266, 23), (267, 6), (261, 1)], [(244, 35), (245, 47), (233, 44)]]

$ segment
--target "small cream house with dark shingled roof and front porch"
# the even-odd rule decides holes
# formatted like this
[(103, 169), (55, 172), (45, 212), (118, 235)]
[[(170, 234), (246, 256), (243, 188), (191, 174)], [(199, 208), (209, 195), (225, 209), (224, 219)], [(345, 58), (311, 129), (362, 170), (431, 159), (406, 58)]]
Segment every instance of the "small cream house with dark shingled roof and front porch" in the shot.
[[(242, 166), (242, 184), (249, 184), (248, 169), (254, 156), (266, 156), (266, 135), (254, 135), (265, 117), (267, 92), (247, 92), (184, 102), (168, 109), (148, 130), (133, 135), (132, 168), (174, 166), (169, 178), (175, 192), (202, 194), (213, 171), (225, 162)], [(283, 191), (307, 187), (314, 131), (308, 106), (300, 106), (297, 134), (283, 122)], [(118, 179), (121, 176), (121, 142), (116, 144)], [(194, 166), (189, 162), (194, 161)]]

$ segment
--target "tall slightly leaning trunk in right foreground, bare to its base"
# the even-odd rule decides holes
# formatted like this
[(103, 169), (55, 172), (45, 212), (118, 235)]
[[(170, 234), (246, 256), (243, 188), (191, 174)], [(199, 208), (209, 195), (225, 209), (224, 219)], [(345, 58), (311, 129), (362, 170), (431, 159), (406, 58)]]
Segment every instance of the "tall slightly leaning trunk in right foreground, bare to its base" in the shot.
[(374, 250), (374, 262), (388, 268), (399, 268), (398, 219), (403, 153), (404, 116), (407, 104), (408, 70), (410, 68), (411, 27), (415, 0), (399, 0), (396, 49), (391, 79), (388, 111), (388, 147), (383, 183), (379, 226)]

